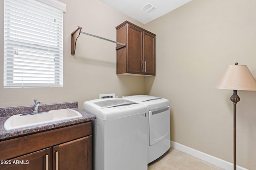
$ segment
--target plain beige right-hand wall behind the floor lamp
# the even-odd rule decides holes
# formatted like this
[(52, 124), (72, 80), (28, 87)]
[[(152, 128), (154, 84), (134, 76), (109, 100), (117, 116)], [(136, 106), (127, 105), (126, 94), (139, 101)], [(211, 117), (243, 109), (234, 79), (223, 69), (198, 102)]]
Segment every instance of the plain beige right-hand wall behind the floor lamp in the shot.
[[(157, 35), (146, 94), (170, 100), (172, 141), (233, 162), (232, 90), (214, 85), (235, 62), (256, 76), (255, 8), (255, 0), (192, 0), (145, 25)], [(238, 95), (237, 164), (253, 170), (256, 92)]]

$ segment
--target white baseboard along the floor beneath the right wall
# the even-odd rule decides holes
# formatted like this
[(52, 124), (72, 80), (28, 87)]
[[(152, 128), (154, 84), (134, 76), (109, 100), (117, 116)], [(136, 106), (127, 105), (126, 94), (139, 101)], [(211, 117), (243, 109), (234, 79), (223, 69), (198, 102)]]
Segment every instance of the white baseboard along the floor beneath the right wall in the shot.
[[(171, 141), (171, 147), (174, 149), (180, 150), (182, 152), (185, 152), (187, 154), (190, 154), (190, 155), (192, 155), (196, 158), (199, 158), (201, 160), (204, 160), (205, 162), (216, 165), (225, 170), (233, 170), (234, 169), (233, 164), (230, 162), (227, 162), (226, 160), (222, 160), (220, 158), (216, 158), (216, 157), (206, 154), (204, 152), (200, 152), (200, 151), (192, 149), (190, 147), (186, 147), (185, 145), (182, 145), (180, 143)], [(248, 170), (246, 168), (243, 168), (243, 167), (237, 166), (237, 165), (236, 165), (236, 169), (237, 170)]]

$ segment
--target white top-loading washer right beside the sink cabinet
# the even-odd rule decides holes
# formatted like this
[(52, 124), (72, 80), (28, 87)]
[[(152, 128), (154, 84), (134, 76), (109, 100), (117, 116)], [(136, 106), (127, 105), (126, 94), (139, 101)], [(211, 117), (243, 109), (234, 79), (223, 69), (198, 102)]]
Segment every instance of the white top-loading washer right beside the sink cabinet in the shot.
[(125, 99), (84, 102), (93, 124), (94, 170), (147, 170), (146, 106)]

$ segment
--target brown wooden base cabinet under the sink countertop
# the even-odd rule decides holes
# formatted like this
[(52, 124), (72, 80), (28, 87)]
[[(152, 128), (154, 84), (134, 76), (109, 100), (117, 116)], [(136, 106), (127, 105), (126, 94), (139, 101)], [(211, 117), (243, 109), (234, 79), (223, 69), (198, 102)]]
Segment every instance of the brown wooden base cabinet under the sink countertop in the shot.
[(91, 170), (91, 121), (0, 141), (0, 170)]

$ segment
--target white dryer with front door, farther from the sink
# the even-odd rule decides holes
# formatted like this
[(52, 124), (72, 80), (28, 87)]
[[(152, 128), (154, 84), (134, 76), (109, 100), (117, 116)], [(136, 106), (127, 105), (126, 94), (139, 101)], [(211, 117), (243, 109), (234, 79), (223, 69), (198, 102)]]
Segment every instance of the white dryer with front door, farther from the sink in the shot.
[(148, 95), (126, 96), (123, 99), (147, 106), (149, 164), (171, 147), (169, 100)]

